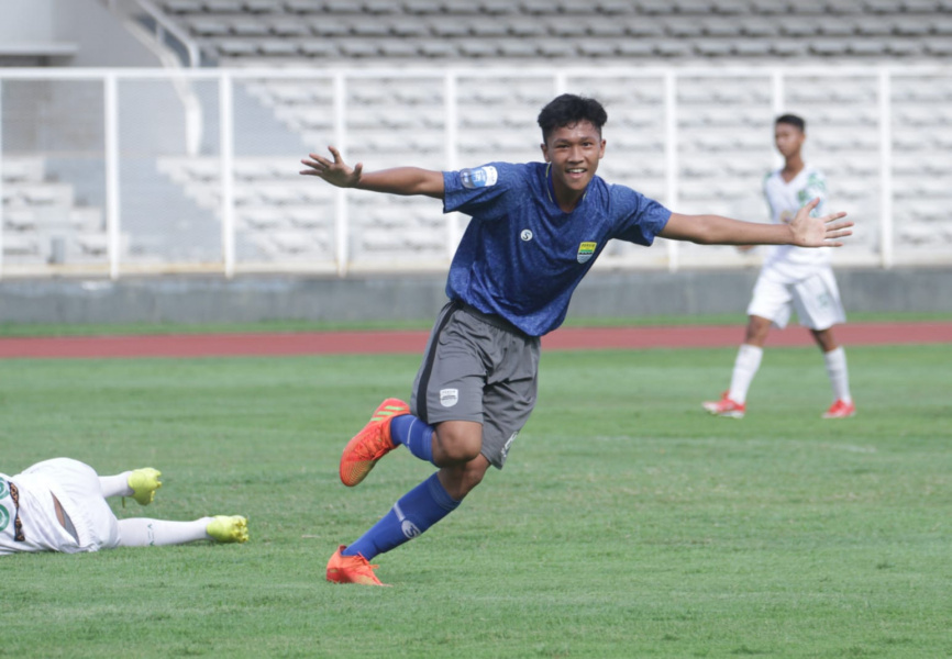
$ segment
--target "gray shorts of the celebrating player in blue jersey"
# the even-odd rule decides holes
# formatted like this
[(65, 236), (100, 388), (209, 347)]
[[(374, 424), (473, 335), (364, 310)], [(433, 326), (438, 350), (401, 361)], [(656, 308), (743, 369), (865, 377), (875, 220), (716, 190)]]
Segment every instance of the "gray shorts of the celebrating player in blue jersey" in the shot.
[(483, 424), (483, 449), (502, 469), (535, 406), (539, 337), (460, 302), (440, 312), (413, 382), (410, 411), (430, 425)]

